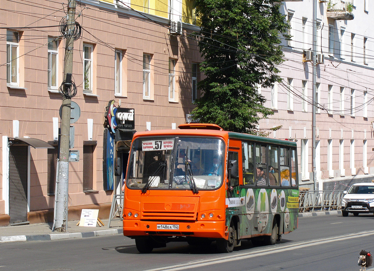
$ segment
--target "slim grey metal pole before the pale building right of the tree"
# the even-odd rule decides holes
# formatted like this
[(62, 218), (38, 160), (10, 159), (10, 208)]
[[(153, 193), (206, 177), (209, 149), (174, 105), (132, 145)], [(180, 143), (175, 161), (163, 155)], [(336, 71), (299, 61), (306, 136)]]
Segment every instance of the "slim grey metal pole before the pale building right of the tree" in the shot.
[(312, 101), (312, 171), (313, 171), (313, 185), (314, 190), (317, 188), (317, 175), (316, 175), (316, 80), (317, 80), (317, 1), (313, 0), (313, 101)]

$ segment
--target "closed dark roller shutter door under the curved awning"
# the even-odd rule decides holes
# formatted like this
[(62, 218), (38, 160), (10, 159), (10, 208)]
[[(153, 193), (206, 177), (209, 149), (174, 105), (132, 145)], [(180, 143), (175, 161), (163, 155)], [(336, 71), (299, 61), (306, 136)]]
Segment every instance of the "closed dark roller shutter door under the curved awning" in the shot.
[(10, 224), (27, 222), (27, 154), (28, 146), (9, 148)]

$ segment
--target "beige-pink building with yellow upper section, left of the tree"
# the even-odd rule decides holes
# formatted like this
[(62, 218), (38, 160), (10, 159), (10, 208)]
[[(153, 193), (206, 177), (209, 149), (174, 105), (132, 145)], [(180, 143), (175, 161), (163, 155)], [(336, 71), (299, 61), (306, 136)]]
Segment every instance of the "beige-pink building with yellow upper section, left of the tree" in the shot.
[[(0, 5), (0, 225), (50, 222), (65, 53), (59, 25), (67, 6), (50, 0)], [(72, 100), (80, 117), (71, 124), (69, 220), (82, 208), (108, 217), (116, 190), (113, 152), (124, 167), (128, 151), (117, 143), (135, 130), (185, 123), (199, 96), (201, 61), (188, 0), (84, 0), (77, 2), (76, 21), (82, 31), (74, 42)], [(117, 122), (130, 121), (113, 138), (104, 129), (111, 100), (118, 112), (128, 112)]]

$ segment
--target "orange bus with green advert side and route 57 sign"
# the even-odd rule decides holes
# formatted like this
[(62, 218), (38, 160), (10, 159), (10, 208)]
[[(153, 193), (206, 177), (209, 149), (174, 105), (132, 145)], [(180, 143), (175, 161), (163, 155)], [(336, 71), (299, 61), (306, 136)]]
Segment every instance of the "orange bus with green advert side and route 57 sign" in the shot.
[(275, 244), (297, 228), (293, 141), (215, 124), (135, 133), (126, 172), (123, 235), (149, 253), (171, 241)]

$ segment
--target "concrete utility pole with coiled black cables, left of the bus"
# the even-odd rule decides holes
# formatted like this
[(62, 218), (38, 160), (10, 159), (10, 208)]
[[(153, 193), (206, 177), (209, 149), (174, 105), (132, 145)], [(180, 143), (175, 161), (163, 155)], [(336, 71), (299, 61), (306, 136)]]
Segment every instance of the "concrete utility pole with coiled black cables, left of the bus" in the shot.
[(58, 177), (55, 193), (55, 217), (53, 219), (53, 231), (66, 232), (67, 204), (69, 184), (69, 145), (70, 145), (70, 114), (71, 114), (71, 74), (73, 73), (73, 49), (75, 31), (76, 1), (68, 1), (67, 27), (65, 31), (65, 62), (64, 81), (62, 82), (62, 113), (60, 129), (60, 150), (58, 160)]

